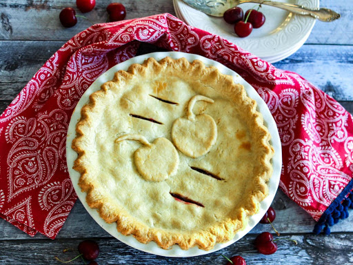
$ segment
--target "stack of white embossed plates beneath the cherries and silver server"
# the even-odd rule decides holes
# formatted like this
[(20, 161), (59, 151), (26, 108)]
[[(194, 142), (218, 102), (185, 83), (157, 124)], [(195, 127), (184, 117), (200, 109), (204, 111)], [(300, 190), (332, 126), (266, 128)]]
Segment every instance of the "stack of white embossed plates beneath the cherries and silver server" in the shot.
[[(276, 0), (296, 3), (308, 8), (319, 8), (319, 0)], [(263, 5), (259, 11), (265, 14), (265, 23), (261, 28), (254, 28), (251, 35), (240, 38), (234, 33), (234, 26), (225, 23), (222, 17), (211, 17), (196, 10), (182, 0), (173, 0), (174, 10), (179, 19), (190, 26), (200, 28), (248, 50), (261, 59), (274, 63), (292, 55), (309, 37), (316, 19), (300, 16), (291, 12)], [(243, 3), (239, 7), (246, 10), (259, 5)]]

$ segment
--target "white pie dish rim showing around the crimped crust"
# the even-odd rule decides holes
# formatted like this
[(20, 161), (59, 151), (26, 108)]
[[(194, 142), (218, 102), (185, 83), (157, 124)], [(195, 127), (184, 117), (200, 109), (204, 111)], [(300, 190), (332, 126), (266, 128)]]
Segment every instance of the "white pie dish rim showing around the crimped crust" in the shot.
[[(77, 158), (77, 153), (71, 148), (72, 140), (76, 136), (76, 132), (75, 132), (76, 124), (81, 117), (81, 108), (88, 102), (88, 97), (92, 94), (92, 92), (99, 90), (101, 87), (101, 84), (111, 80), (114, 77), (114, 73), (117, 72), (118, 70), (127, 70), (132, 63), (143, 63), (143, 61), (145, 61), (145, 59), (148, 59), (149, 57), (154, 57), (154, 59), (159, 61), (167, 56), (172, 57), (174, 59), (185, 57), (189, 61), (194, 61), (194, 59), (199, 59), (203, 61), (203, 63), (205, 63), (206, 66), (216, 66), (224, 74), (231, 75), (234, 78), (234, 81), (236, 83), (243, 84), (243, 86), (245, 87), (245, 90), (248, 92), (249, 97), (257, 101), (258, 110), (262, 113), (263, 119), (265, 121), (265, 125), (269, 128), (272, 136), (271, 144), (275, 150), (275, 155), (272, 159), (274, 171), (270, 181), (268, 181), (268, 187), (269, 187), (268, 197), (266, 197), (263, 200), (263, 202), (261, 202), (259, 213), (249, 218), (248, 226), (246, 226), (244, 230), (237, 233), (234, 239), (232, 239), (230, 242), (226, 242), (223, 244), (221, 243), (216, 244), (216, 246), (211, 251), (201, 251), (197, 247), (190, 248), (188, 251), (183, 251), (177, 245), (174, 245), (170, 250), (164, 250), (162, 248), (159, 248), (159, 246), (157, 246), (157, 244), (154, 242), (150, 242), (148, 244), (142, 244), (132, 236), (122, 235), (117, 231), (116, 224), (105, 223), (105, 221), (101, 219), (101, 217), (99, 217), (97, 210), (92, 209), (90, 208), (90, 206), (88, 206), (85, 200), (86, 193), (83, 193), (81, 191), (81, 188), (79, 188), (78, 186), (80, 174), (77, 171), (72, 169), (74, 160)], [(74, 112), (72, 113), (70, 125), (68, 128), (68, 137), (66, 140), (66, 158), (68, 163), (68, 171), (70, 173), (70, 178), (72, 180), (74, 190), (76, 191), (83, 206), (85, 206), (85, 209), (93, 217), (93, 219), (97, 222), (97, 224), (99, 224), (99, 226), (101, 226), (104, 230), (110, 233), (110, 235), (112, 235), (113, 237), (116, 237), (121, 242), (124, 242), (125, 244), (132, 246), (133, 248), (137, 248), (141, 251), (145, 251), (147, 253), (152, 253), (155, 255), (162, 255), (165, 257), (192, 257), (196, 255), (204, 255), (204, 254), (212, 253), (214, 251), (218, 251), (221, 248), (225, 248), (226, 246), (229, 246), (230, 244), (233, 244), (237, 240), (241, 239), (241, 237), (246, 235), (252, 228), (254, 228), (254, 226), (260, 221), (261, 217), (263, 217), (266, 210), (268, 210), (268, 208), (270, 207), (272, 200), (274, 199), (274, 195), (276, 194), (276, 190), (279, 186), (279, 177), (281, 175), (281, 166), (282, 166), (281, 141), (279, 139), (279, 133), (277, 131), (276, 123), (272, 118), (272, 115), (270, 113), (270, 110), (268, 109), (268, 106), (265, 104), (263, 99), (261, 99), (259, 94), (257, 94), (254, 88), (252, 88), (250, 84), (245, 82), (245, 80), (241, 78), (238, 74), (236, 74), (236, 72), (230, 70), (229, 68), (226, 68), (221, 63), (212, 61), (210, 59), (201, 57), (199, 55), (193, 55), (193, 54), (188, 54), (183, 52), (154, 52), (148, 55), (141, 55), (138, 57), (134, 57), (132, 59), (129, 59), (128, 61), (124, 61), (123, 63), (119, 63), (117, 64), (117, 66), (110, 68), (110, 70), (105, 72), (96, 81), (94, 81), (94, 83), (90, 86), (90, 88), (88, 88), (88, 90), (85, 91), (79, 103), (77, 104), (76, 108), (74, 109)]]

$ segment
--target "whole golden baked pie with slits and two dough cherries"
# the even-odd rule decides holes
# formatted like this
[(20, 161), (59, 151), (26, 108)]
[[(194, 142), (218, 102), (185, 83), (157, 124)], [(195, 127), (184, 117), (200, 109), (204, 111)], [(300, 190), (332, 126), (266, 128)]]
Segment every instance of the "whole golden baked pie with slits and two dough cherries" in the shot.
[(88, 205), (139, 242), (208, 251), (268, 195), (274, 149), (256, 101), (198, 60), (120, 70), (90, 95), (76, 132)]

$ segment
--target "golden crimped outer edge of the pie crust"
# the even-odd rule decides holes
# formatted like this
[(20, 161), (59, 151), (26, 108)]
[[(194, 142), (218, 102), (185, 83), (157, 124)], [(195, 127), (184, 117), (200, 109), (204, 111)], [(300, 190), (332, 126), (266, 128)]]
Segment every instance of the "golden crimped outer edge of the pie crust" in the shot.
[[(234, 101), (242, 101), (251, 110), (249, 112), (249, 119), (256, 121), (256, 130), (259, 138), (257, 141), (261, 142), (261, 165), (258, 167), (258, 174), (253, 179), (252, 186), (254, 192), (243, 202), (243, 205), (235, 209), (232, 213), (232, 218), (224, 219), (222, 222), (216, 222), (211, 226), (200, 231), (191, 232), (176, 232), (174, 230), (160, 230), (158, 228), (150, 228), (146, 224), (134, 219), (130, 216), (123, 206), (121, 208), (111, 203), (108, 195), (100, 193), (99, 188), (94, 181), (87, 181), (88, 169), (84, 166), (85, 150), (80, 146), (80, 141), (83, 139), (83, 130), (85, 126), (90, 126), (90, 111), (94, 108), (97, 100), (103, 97), (105, 92), (110, 89), (111, 82), (125, 82), (132, 78), (133, 75), (145, 71), (150, 68), (155, 71), (161, 71), (165, 67), (173, 67), (179, 70), (194, 71), (196, 73), (203, 73), (203, 76), (210, 78), (210, 83), (223, 81), (227, 84), (228, 91), (225, 93), (234, 99)], [(156, 242), (161, 248), (168, 249), (174, 244), (179, 244), (182, 249), (188, 249), (193, 246), (199, 246), (203, 250), (210, 250), (217, 242), (227, 242), (232, 239), (236, 231), (244, 228), (247, 217), (257, 212), (259, 202), (261, 202), (268, 195), (268, 187), (266, 181), (272, 175), (272, 166), (270, 159), (273, 156), (274, 150), (269, 144), (270, 133), (268, 129), (263, 126), (262, 115), (256, 111), (256, 101), (250, 99), (243, 88), (243, 86), (234, 84), (232, 77), (223, 75), (214, 67), (206, 68), (201, 61), (195, 60), (190, 63), (188, 60), (170, 59), (165, 57), (161, 61), (150, 58), (143, 64), (134, 64), (130, 66), (128, 71), (119, 71), (115, 74), (112, 81), (108, 81), (101, 86), (101, 90), (90, 95), (90, 101), (81, 109), (81, 119), (77, 123), (77, 137), (72, 141), (72, 148), (78, 153), (76, 161), (74, 161), (74, 170), (77, 170), (81, 177), (79, 179), (79, 186), (81, 190), (87, 193), (86, 200), (91, 208), (97, 208), (100, 216), (105, 222), (117, 222), (117, 230), (123, 235), (134, 235), (139, 242), (148, 243), (150, 241)]]

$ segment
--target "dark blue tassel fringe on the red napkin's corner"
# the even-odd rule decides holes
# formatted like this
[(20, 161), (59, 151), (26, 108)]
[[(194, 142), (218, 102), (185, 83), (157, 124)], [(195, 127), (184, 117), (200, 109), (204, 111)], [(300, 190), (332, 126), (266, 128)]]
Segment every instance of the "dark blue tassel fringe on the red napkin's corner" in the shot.
[(346, 219), (349, 216), (349, 208), (353, 209), (353, 179), (321, 215), (314, 226), (314, 234), (319, 235), (322, 232), (324, 235), (330, 235), (330, 226), (337, 224), (339, 219)]

